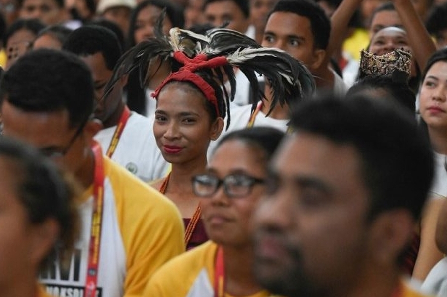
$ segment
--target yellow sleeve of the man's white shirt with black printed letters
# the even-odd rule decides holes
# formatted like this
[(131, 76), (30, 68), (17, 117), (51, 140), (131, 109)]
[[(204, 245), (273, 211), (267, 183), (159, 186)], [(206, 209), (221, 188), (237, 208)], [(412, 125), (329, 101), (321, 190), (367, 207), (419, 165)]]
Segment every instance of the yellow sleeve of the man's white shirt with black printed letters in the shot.
[(184, 252), (183, 221), (169, 199), (107, 157), (104, 171), (115, 194), (116, 216), (126, 250), (124, 296), (140, 296), (155, 270)]

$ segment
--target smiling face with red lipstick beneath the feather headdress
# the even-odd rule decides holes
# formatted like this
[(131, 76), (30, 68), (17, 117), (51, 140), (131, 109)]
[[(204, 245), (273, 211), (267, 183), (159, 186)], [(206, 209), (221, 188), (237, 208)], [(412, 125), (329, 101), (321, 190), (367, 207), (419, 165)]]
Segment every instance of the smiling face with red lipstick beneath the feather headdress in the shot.
[(153, 133), (166, 161), (206, 159), (210, 140), (219, 137), (223, 120), (211, 123), (205, 98), (185, 83), (167, 84), (159, 93)]

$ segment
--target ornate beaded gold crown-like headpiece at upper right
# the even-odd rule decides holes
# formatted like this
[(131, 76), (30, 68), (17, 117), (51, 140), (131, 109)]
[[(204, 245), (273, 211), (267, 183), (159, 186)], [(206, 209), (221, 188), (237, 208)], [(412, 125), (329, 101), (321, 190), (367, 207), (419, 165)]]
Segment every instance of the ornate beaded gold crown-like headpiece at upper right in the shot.
[[(375, 55), (362, 50), (360, 57), (360, 71), (366, 75), (410, 77), (411, 54), (402, 49), (396, 49), (384, 55)], [(396, 75), (397, 74), (397, 75)]]

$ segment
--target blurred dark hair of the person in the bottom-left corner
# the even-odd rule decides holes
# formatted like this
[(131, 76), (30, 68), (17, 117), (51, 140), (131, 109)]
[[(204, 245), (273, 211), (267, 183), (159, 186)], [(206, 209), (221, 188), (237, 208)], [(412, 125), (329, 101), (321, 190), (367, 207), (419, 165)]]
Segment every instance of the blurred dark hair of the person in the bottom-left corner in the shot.
[[(6, 136), (0, 138), (0, 158), (7, 166), (2, 170), (8, 170), (16, 180), (12, 186), (29, 223), (55, 219), (60, 228), (58, 247), (69, 253), (79, 234), (79, 214), (74, 203), (78, 192), (73, 181), (36, 148)], [(55, 251), (48, 251), (40, 268), (55, 258)]]

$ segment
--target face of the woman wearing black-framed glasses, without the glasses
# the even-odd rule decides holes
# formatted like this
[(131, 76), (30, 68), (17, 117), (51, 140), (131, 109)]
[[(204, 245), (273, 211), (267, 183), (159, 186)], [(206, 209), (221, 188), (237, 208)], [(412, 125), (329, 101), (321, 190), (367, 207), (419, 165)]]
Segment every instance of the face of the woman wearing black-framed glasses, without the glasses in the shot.
[[(229, 175), (266, 177), (264, 152), (240, 140), (228, 140), (216, 149), (207, 166), (207, 174), (223, 180)], [(208, 237), (218, 244), (245, 246), (251, 242), (251, 215), (264, 193), (255, 183), (248, 195), (228, 197), (221, 185), (210, 197), (201, 198), (202, 219)]]

